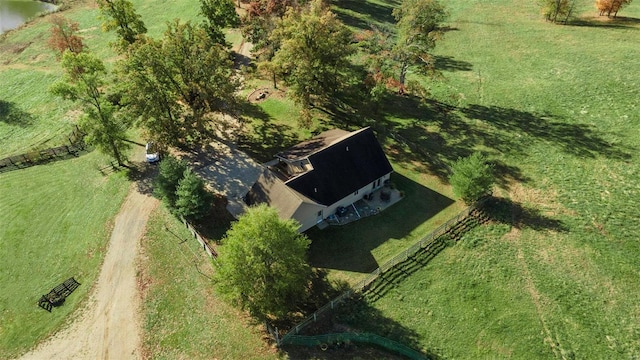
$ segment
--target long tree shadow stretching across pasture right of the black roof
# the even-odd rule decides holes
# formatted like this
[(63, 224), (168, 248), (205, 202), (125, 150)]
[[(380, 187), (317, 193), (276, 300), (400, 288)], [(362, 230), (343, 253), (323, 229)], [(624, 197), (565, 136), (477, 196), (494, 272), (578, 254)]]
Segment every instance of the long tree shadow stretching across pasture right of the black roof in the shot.
[[(351, 104), (343, 106), (346, 110), (334, 107), (328, 113), (338, 124), (373, 127), (387, 156), (444, 182), (453, 162), (479, 148), (490, 159), (505, 154), (522, 157), (528, 155), (533, 141), (541, 141), (581, 158), (625, 161), (633, 150), (607, 142), (593, 127), (552, 114), (477, 104), (457, 107), (396, 94), (388, 94), (378, 109)], [(495, 161), (495, 169), (498, 184), (506, 189), (514, 180), (530, 180), (513, 163)]]

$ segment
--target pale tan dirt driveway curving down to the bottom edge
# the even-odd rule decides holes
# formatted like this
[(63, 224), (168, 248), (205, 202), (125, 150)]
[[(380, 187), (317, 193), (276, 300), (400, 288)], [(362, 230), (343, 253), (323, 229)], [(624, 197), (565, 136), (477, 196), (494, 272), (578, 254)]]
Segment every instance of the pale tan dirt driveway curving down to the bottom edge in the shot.
[(158, 201), (133, 184), (109, 241), (98, 282), (80, 317), (21, 359), (139, 359), (140, 297), (135, 258)]

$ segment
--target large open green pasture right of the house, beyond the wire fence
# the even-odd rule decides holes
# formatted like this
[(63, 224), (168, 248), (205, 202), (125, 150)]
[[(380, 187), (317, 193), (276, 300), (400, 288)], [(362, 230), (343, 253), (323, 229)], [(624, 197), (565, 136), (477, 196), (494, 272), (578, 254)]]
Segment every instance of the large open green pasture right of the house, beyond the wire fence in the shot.
[(496, 195), (521, 211), (345, 321), (445, 358), (639, 356), (640, 9), (607, 20), (579, 1), (580, 19), (558, 26), (535, 2), (446, 4), (445, 80), (425, 80), (433, 99), (381, 127), (422, 150), (397, 162), (443, 180), (446, 164), (484, 151)]

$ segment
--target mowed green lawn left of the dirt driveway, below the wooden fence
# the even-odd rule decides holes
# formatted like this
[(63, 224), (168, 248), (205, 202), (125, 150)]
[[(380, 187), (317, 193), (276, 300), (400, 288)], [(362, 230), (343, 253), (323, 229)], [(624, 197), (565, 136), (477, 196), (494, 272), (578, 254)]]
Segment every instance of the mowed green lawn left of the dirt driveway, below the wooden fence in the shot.
[[(100, 270), (111, 221), (128, 192), (105, 177), (96, 152), (0, 174), (0, 358), (26, 351), (87, 297)], [(69, 277), (82, 285), (51, 313), (41, 295)]]

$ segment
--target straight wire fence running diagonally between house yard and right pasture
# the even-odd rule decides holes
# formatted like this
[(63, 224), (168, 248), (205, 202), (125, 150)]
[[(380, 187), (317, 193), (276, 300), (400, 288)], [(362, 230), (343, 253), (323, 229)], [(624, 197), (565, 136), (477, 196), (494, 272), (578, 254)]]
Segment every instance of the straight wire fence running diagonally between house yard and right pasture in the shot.
[[(415, 244), (411, 245), (410, 247), (408, 247), (407, 249), (402, 251), (400, 254), (396, 255), (391, 260), (389, 260), (389, 261), (385, 262), (384, 264), (382, 264), (380, 267), (378, 267), (373, 272), (371, 272), (369, 275), (367, 275), (366, 278), (364, 278), (363, 280), (361, 280), (360, 282), (358, 282), (357, 284), (352, 286), (351, 289), (345, 291), (344, 293), (340, 294), (339, 296), (337, 296), (333, 300), (329, 301), (323, 307), (321, 307), (318, 310), (316, 310), (313, 314), (307, 316), (304, 320), (302, 320), (301, 322), (299, 322), (298, 324), (293, 326), (289, 330), (289, 332), (284, 334), (282, 337), (276, 336), (275, 339), (276, 339), (276, 343), (278, 344), (278, 346), (280, 346), (283, 343), (286, 344), (288, 341), (290, 341), (289, 339), (292, 336), (298, 335), (300, 333), (300, 331), (302, 331), (304, 328), (306, 328), (307, 326), (309, 326), (309, 325), (315, 323), (316, 321), (318, 321), (318, 319), (324, 313), (333, 310), (340, 303), (342, 303), (346, 299), (352, 297), (356, 293), (362, 292), (372, 282), (374, 282), (381, 274), (389, 271), (390, 269), (394, 268), (398, 264), (401, 264), (402, 262), (406, 261), (409, 257), (415, 255), (421, 249), (426, 249), (426, 248), (429, 248), (432, 245), (434, 245), (434, 243), (436, 242), (436, 240), (438, 240), (439, 237), (441, 237), (442, 235), (445, 235), (456, 224), (458, 224), (459, 222), (461, 222), (464, 219), (466, 219), (471, 214), (471, 212), (473, 212), (475, 209), (477, 209), (480, 206), (482, 206), (482, 204), (484, 204), (485, 201), (488, 198), (489, 197), (484, 197), (484, 198), (478, 200), (476, 203), (474, 203), (473, 205), (467, 207), (466, 209), (461, 211), (458, 215), (456, 215), (456, 216), (452, 217), (451, 219), (449, 219), (446, 223), (440, 225), (438, 228), (436, 228), (431, 233), (429, 233), (428, 235), (426, 235), (425, 237), (420, 239), (418, 242), (416, 242)], [(272, 330), (270, 329), (270, 332), (271, 331)]]

